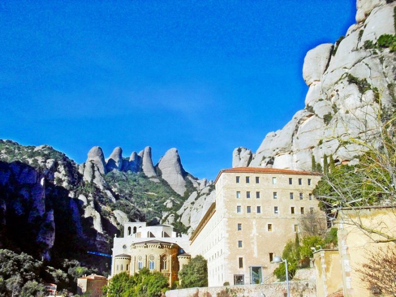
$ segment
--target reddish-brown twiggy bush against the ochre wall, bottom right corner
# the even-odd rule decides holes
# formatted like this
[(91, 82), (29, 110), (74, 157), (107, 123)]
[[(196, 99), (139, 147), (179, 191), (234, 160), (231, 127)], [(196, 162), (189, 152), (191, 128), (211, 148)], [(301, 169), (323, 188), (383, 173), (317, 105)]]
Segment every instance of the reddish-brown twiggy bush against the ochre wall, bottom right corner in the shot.
[(357, 270), (366, 288), (373, 293), (396, 297), (396, 249), (378, 248), (367, 253), (367, 261)]

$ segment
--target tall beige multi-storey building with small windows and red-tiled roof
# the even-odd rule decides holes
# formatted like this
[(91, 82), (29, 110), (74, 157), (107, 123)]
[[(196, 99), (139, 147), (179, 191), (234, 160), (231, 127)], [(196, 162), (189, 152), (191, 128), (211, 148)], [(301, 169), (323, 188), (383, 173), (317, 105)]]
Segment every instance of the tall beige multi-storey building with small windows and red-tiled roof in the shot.
[(209, 286), (258, 284), (271, 275), (272, 257), (295, 239), (301, 216), (321, 211), (312, 195), (320, 178), (270, 168), (222, 170), (216, 201), (190, 238), (192, 256), (208, 261)]

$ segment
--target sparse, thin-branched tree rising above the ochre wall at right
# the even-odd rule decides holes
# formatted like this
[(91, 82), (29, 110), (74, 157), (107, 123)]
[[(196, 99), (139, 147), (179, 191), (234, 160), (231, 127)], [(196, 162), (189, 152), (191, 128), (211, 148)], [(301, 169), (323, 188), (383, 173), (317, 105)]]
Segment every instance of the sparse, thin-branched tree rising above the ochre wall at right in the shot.
[[(379, 99), (352, 116), (355, 119), (349, 119), (349, 125), (345, 124), (346, 134), (333, 139), (345, 150), (360, 150), (359, 162), (357, 165), (337, 166), (324, 174), (314, 195), (321, 201), (329, 220), (347, 208), (354, 215), (339, 216), (343, 224), (359, 228), (373, 243), (396, 243), (391, 227), (367, 224), (360, 216), (368, 205), (396, 205), (394, 106), (385, 108)], [(350, 129), (350, 123), (354, 123), (353, 129)]]

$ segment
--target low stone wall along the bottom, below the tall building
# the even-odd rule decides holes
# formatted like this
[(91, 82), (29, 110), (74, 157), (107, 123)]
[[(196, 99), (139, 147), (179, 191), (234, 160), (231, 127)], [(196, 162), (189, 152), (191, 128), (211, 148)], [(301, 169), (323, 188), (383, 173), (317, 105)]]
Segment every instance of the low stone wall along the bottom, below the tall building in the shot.
[[(316, 297), (315, 281), (291, 281), (289, 288), (291, 296)], [(287, 293), (285, 282), (275, 282), (260, 285), (170, 290), (165, 295), (166, 297), (286, 297)]]

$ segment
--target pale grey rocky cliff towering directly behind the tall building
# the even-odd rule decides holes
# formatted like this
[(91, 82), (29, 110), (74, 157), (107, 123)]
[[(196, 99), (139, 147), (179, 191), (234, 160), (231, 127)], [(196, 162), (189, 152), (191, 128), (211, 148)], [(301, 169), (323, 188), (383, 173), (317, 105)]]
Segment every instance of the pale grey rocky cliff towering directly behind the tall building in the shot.
[(393, 0), (357, 0), (357, 23), (346, 36), (305, 56), (305, 108), (268, 133), (255, 153), (235, 148), (232, 166), (311, 170), (312, 156), (323, 164), (325, 154), (356, 162), (361, 148), (343, 140), (375, 135), (379, 105), (395, 108), (395, 6)]

